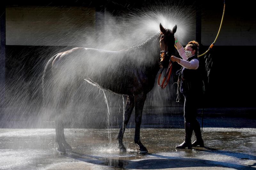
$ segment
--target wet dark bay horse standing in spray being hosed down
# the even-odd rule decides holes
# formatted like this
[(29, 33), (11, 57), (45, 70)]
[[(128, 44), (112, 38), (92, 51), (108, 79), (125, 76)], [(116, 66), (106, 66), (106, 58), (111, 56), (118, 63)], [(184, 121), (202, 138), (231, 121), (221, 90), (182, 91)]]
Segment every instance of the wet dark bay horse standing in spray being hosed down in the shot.
[[(93, 48), (73, 48), (53, 56), (44, 68), (42, 79), (44, 106), (54, 113), (56, 142), (58, 150), (71, 149), (64, 137), (64, 123), (61, 114), (67, 112), (68, 103), (75, 98), (75, 92), (84, 85), (84, 79), (100, 88), (127, 95), (124, 122), (118, 134), (119, 149), (123, 144), (124, 130), (135, 107), (134, 142), (140, 152), (148, 152), (140, 141), (140, 124), (146, 95), (152, 90), (160, 67), (168, 67), (174, 50), (174, 33), (160, 24), (157, 33), (139, 46), (120, 51), (106, 51)], [(159, 53), (162, 52), (161, 62)]]

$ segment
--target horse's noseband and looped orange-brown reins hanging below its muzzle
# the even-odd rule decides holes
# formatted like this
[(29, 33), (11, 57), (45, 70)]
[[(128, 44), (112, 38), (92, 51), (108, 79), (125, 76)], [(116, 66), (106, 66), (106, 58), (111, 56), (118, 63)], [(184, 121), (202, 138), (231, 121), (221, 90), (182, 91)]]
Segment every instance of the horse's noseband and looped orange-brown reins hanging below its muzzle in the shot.
[[(163, 56), (161, 56), (162, 53), (164, 53)], [(161, 59), (161, 61), (162, 61), (162, 59), (164, 58), (165, 55), (169, 56), (169, 52), (168, 51), (160, 51), (160, 59)], [(160, 78), (162, 76), (162, 72), (163, 71), (164, 71), (164, 68), (162, 68), (162, 70), (161, 70), (161, 72), (160, 72), (160, 74), (158, 76), (158, 81), (157, 81), (158, 85), (161, 86), (162, 89), (164, 89), (168, 85), (168, 83), (170, 81), (170, 78), (171, 78), (171, 74), (172, 74), (172, 61), (171, 61), (171, 58), (170, 58), (170, 61), (169, 61), (168, 69), (167, 69), (167, 71), (166, 71), (166, 73), (164, 75), (164, 79), (163, 79), (163, 81), (162, 81), (162, 83), (160, 85)], [(168, 75), (168, 78), (166, 80), (167, 75)], [(165, 84), (164, 84), (164, 82), (165, 82)]]

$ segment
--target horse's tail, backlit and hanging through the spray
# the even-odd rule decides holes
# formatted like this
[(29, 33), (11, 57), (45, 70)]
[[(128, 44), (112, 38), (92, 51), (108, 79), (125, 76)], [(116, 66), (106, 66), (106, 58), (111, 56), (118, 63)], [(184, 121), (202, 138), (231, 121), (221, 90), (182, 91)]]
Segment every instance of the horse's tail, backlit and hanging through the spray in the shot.
[[(56, 54), (58, 55), (58, 54)], [(52, 58), (50, 58), (50, 60), (48, 60), (48, 62), (46, 63), (45, 67), (44, 67), (44, 73), (43, 73), (43, 77), (42, 77), (42, 94), (43, 94), (43, 107), (46, 107), (45, 104), (45, 88), (46, 88), (46, 84), (45, 84), (45, 79), (51, 77), (52, 74), (52, 61), (54, 60), (54, 58), (56, 57), (56, 55), (54, 55)]]

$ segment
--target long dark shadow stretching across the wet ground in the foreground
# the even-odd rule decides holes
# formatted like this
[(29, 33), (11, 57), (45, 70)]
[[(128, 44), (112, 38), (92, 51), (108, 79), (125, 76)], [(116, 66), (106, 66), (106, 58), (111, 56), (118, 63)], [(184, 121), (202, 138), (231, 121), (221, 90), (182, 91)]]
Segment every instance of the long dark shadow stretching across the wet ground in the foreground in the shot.
[[(209, 150), (198, 150), (204, 152), (214, 152), (220, 153), (231, 157), (236, 157), (240, 159), (253, 159), (256, 157), (253, 155), (236, 153), (236, 152), (225, 152), (216, 150), (213, 148), (208, 148)], [(104, 158), (92, 155), (86, 155), (78, 152), (70, 152), (66, 154), (67, 157), (77, 159), (79, 161), (84, 161), (92, 164), (100, 164), (105, 166), (112, 166), (117, 168), (128, 168), (128, 169), (166, 169), (166, 168), (188, 168), (188, 167), (226, 167), (226, 168), (234, 168), (234, 169), (256, 169), (251, 166), (246, 165), (238, 165), (234, 163), (220, 162), (220, 161), (212, 161), (206, 159), (193, 159), (193, 158), (180, 158), (180, 157), (172, 157), (172, 156), (163, 156), (159, 154), (147, 154), (150, 159), (142, 159), (142, 160), (122, 160), (122, 159), (111, 159)], [(154, 159), (157, 158), (157, 159)], [(256, 163), (255, 163), (256, 164)], [(255, 166), (252, 165), (252, 166)]]

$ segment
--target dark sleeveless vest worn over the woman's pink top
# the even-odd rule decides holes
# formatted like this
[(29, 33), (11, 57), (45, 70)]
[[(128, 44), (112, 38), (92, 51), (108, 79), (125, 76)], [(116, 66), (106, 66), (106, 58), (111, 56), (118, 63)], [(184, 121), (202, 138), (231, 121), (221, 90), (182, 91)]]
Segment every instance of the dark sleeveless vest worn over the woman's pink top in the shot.
[[(193, 59), (198, 59), (197, 55), (188, 58), (188, 62)], [(181, 93), (200, 93), (202, 91), (202, 77), (199, 71), (199, 67), (194, 69), (181, 68), (180, 73), (180, 92)]]

